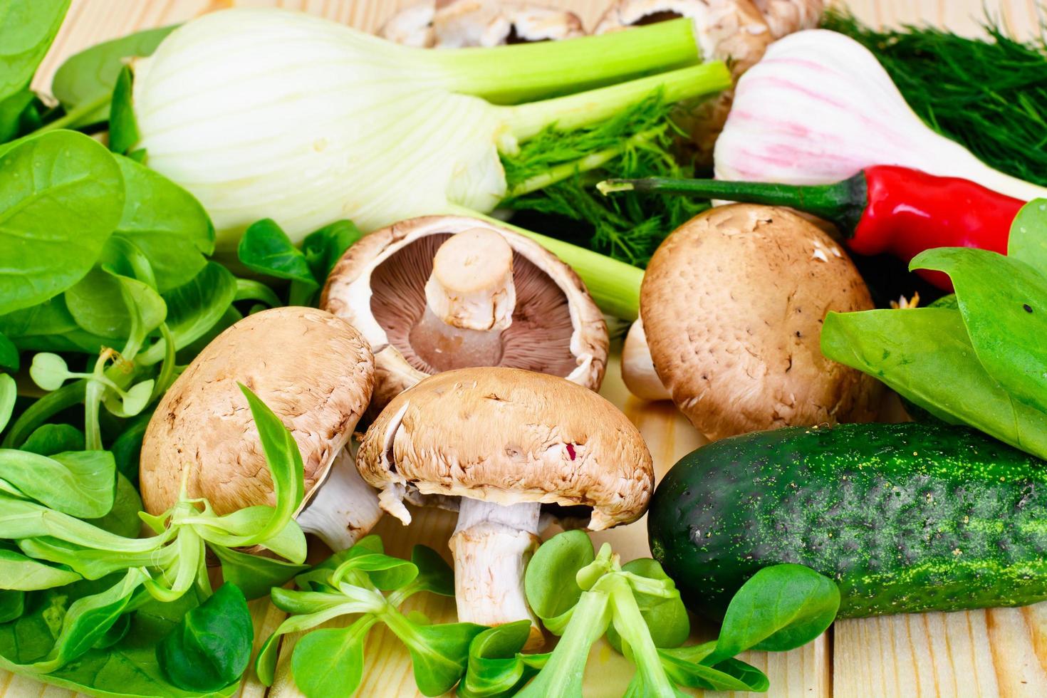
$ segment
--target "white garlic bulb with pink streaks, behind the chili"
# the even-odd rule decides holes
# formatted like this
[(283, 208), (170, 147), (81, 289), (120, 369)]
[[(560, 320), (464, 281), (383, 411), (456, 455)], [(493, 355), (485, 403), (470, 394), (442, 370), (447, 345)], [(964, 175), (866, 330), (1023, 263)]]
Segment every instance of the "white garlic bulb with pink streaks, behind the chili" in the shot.
[(741, 77), (714, 156), (728, 180), (825, 184), (894, 164), (1018, 199), (1047, 196), (932, 131), (869, 50), (824, 29), (775, 42)]

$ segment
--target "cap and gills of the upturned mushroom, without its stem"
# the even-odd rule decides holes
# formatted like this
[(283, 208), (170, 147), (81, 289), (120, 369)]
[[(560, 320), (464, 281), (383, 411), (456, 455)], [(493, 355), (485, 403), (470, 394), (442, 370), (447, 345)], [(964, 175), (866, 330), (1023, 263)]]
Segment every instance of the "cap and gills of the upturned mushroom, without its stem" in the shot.
[[(350, 247), (328, 277), (320, 306), (353, 324), (375, 355), (374, 412), (437, 373), (415, 354), (410, 328), (425, 312), (425, 285), (440, 245), (486, 228), (513, 249), (516, 308), (503, 334), (502, 364), (555, 373), (598, 389), (607, 364), (607, 325), (584, 284), (538, 243), (499, 225), (458, 216), (401, 221)], [(550, 289), (558, 289), (550, 293)]]

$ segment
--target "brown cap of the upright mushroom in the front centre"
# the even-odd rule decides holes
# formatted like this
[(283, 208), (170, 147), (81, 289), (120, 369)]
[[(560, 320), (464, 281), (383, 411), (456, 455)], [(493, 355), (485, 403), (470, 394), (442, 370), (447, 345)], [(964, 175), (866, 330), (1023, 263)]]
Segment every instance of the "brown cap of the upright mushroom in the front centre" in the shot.
[(367, 429), (356, 466), (383, 489), (589, 506), (593, 531), (640, 518), (654, 486), (650, 452), (618, 408), (516, 368), (448, 370), (400, 393)]

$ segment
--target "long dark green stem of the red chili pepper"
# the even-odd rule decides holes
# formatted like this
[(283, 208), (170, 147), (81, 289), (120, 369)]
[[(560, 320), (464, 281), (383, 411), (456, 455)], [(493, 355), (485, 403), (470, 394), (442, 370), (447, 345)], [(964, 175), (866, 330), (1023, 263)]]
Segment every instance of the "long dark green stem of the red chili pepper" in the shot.
[(603, 195), (619, 192), (662, 192), (686, 194), (703, 199), (789, 206), (831, 221), (848, 238), (854, 234), (854, 228), (868, 204), (868, 185), (864, 173), (859, 173), (842, 182), (814, 185), (649, 177), (608, 179), (596, 187)]

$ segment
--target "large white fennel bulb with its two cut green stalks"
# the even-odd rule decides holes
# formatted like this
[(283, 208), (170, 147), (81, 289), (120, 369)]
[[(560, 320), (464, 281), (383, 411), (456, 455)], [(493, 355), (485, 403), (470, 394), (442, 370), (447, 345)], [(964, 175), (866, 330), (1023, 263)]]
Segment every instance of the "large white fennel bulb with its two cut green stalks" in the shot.
[(337, 219), (373, 230), (422, 215), (488, 212), (506, 196), (499, 152), (549, 123), (603, 120), (655, 89), (671, 100), (716, 92), (730, 77), (710, 63), (505, 103), (697, 60), (686, 21), (433, 52), (304, 14), (230, 9), (176, 29), (135, 64), (137, 147), (204, 205), (219, 250), (261, 218), (298, 242)]

